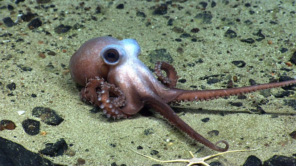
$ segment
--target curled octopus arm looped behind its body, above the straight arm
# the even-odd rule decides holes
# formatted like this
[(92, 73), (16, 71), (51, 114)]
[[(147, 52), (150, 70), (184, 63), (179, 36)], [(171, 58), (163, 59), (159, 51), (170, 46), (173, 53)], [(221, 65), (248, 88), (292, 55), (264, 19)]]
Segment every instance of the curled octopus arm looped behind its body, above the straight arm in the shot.
[[(163, 75), (161, 70), (164, 70), (167, 73), (167, 77)], [(174, 88), (177, 85), (178, 76), (175, 68), (167, 62), (157, 61), (154, 67), (154, 73), (157, 76), (158, 81), (163, 85), (166, 85), (169, 88)]]

